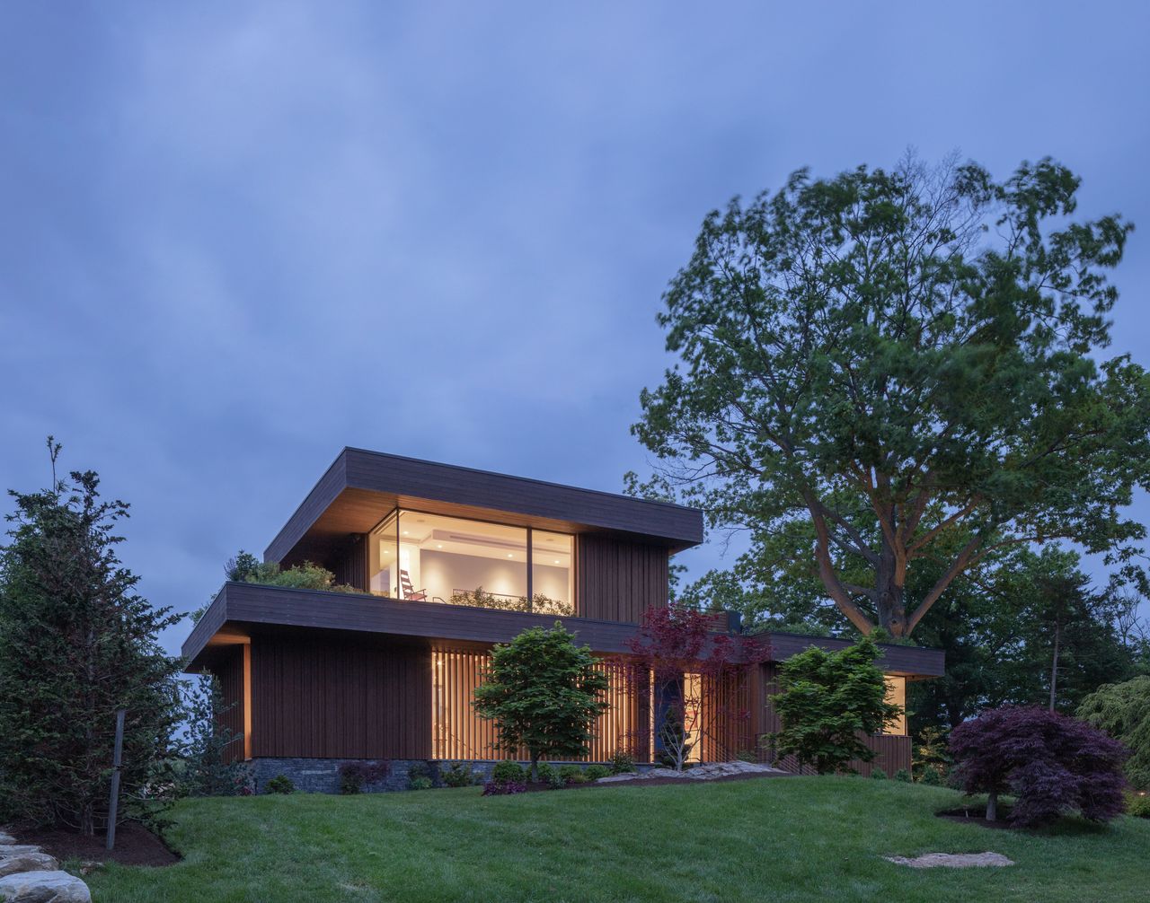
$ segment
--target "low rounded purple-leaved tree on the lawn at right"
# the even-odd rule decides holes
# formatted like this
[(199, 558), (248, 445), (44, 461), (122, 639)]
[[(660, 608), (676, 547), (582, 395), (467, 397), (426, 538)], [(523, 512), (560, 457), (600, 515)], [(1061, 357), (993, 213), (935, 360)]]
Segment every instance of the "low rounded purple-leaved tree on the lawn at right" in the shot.
[(1028, 827), (1078, 811), (1106, 821), (1122, 811), (1122, 762), (1117, 740), (1078, 718), (1038, 707), (1004, 707), (963, 721), (950, 735), (958, 779), (987, 794), (987, 820), (998, 795), (1017, 798), (1011, 824)]

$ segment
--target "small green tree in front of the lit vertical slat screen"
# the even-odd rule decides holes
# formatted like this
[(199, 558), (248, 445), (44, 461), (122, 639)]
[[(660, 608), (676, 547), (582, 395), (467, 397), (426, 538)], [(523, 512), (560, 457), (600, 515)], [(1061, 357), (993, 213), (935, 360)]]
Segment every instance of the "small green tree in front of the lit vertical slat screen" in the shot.
[(607, 709), (607, 676), (586, 646), (555, 622), (531, 627), (491, 653), (486, 679), (475, 688), (475, 711), (494, 721), (500, 749), (526, 747), (531, 780), (540, 756), (588, 755), (595, 719)]

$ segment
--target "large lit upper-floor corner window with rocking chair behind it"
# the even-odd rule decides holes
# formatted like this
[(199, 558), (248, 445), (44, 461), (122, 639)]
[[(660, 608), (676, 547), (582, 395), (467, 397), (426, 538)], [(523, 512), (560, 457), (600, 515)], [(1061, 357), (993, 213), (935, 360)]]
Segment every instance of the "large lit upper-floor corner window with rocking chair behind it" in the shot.
[(377, 595), (573, 615), (573, 538), (398, 510), (369, 539)]

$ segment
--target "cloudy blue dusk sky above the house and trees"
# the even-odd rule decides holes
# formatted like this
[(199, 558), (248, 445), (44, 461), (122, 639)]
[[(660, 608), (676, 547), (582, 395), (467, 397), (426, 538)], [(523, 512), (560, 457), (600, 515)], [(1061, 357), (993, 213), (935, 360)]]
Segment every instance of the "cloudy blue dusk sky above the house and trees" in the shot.
[(182, 611), (344, 446), (619, 491), (704, 215), (908, 146), (1055, 156), (1138, 225), (1111, 353), (1150, 364), (1148, 34), (1143, 2), (6, 2), (3, 486), (55, 434)]

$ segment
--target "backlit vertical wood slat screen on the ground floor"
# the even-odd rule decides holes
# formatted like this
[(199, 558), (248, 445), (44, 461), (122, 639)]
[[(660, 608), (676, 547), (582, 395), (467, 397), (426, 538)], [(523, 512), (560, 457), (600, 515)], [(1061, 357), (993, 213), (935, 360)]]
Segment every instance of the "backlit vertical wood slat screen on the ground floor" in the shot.
[[(491, 664), (491, 655), (469, 649), (436, 649), (432, 669), (432, 755), (438, 759), (526, 759), (527, 750), (512, 756), (496, 747), (493, 721), (480, 718), (471, 707), (475, 688)], [(637, 724), (635, 700), (629, 696), (619, 669), (607, 662), (598, 667), (611, 679), (608, 709), (595, 723), (591, 755), (585, 762), (606, 762), (616, 749), (630, 749)]]

